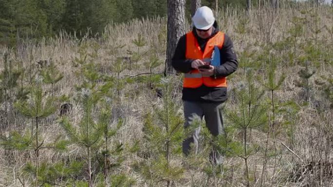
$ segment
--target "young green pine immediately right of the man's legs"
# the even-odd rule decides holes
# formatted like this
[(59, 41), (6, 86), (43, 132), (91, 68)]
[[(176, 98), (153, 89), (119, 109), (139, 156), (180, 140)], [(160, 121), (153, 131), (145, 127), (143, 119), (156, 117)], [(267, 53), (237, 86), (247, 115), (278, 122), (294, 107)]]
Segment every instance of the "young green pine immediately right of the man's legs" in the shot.
[[(235, 90), (235, 97), (238, 105), (236, 110), (224, 110), (226, 123), (229, 128), (240, 131), (242, 134), (242, 147), (238, 143), (227, 144), (228, 136), (220, 136), (222, 139), (222, 150), (229, 152), (228, 154), (238, 156), (244, 160), (246, 186), (250, 186), (250, 171), (248, 160), (249, 157), (258, 152), (258, 145), (249, 142), (249, 130), (259, 128), (267, 122), (266, 107), (262, 102), (264, 92), (255, 86), (251, 69), (246, 71), (246, 84), (241, 85)], [(228, 130), (230, 131), (230, 129)], [(223, 140), (224, 139), (224, 140)], [(238, 141), (238, 140), (234, 140)]]

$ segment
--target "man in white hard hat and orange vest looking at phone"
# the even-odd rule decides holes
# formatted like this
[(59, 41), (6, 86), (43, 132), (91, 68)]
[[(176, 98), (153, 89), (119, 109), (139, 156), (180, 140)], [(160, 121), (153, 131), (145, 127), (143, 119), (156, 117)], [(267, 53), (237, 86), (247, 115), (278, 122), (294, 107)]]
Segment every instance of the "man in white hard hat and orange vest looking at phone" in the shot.
[[(238, 61), (231, 39), (219, 31), (213, 12), (203, 6), (192, 17), (193, 30), (182, 36), (172, 58), (172, 66), (185, 73), (183, 83), (183, 102), (185, 128), (191, 124), (195, 115), (205, 120), (213, 136), (223, 133), (221, 105), (226, 101), (226, 76), (236, 71)], [(214, 47), (219, 48), (220, 62), (210, 64)], [(198, 151), (200, 128), (193, 136), (183, 142), (183, 153), (189, 154), (190, 143)], [(213, 150), (210, 160), (221, 164), (222, 156)]]

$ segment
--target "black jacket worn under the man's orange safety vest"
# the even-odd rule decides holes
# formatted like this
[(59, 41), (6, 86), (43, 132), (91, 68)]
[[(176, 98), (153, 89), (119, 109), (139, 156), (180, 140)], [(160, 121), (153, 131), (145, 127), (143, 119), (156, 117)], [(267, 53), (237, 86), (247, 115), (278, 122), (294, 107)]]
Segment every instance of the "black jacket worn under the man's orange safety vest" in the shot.
[[(219, 28), (217, 23), (215, 22), (213, 27), (213, 33), (210, 37), (213, 37), (215, 34), (219, 32)], [(209, 38), (202, 39), (200, 38), (195, 28), (193, 28), (192, 32), (198, 40), (200, 48), (204, 51), (206, 43)], [(172, 67), (177, 71), (181, 71), (183, 73), (189, 72), (191, 69), (191, 63), (195, 59), (185, 59), (185, 51), (186, 51), (186, 34), (183, 35), (177, 44), (177, 48), (175, 54), (172, 58)], [(234, 51), (234, 46), (226, 34), (224, 34), (224, 43), (222, 49), (220, 50), (220, 59), (221, 66), (215, 67), (214, 76), (216, 77), (226, 77), (231, 73), (235, 72), (238, 67), (237, 56)], [(197, 102), (224, 102), (227, 99), (226, 95), (227, 88), (226, 87), (207, 87), (202, 85), (198, 88), (183, 88), (183, 100), (185, 101), (197, 101)]]

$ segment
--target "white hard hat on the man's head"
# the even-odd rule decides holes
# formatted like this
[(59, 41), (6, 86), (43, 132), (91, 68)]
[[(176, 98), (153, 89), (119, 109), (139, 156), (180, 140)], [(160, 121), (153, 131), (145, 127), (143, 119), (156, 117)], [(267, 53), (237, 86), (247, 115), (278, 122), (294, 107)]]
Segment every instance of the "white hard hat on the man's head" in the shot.
[(214, 24), (214, 21), (213, 11), (206, 6), (198, 8), (192, 17), (192, 22), (197, 29), (209, 29)]

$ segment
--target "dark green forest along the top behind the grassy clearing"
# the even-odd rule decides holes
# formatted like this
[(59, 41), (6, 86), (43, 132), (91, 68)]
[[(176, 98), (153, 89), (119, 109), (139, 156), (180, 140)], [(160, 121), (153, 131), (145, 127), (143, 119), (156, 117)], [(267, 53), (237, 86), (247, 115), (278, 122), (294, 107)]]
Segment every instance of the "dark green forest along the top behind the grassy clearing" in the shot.
[[(270, 0), (252, 0), (252, 6)], [(323, 1), (323, 0), (313, 0)], [(50, 37), (60, 32), (77, 37), (99, 36), (108, 23), (128, 22), (133, 18), (166, 17), (166, 0), (0, 0), (0, 44), (15, 46), (17, 40)], [(292, 1), (290, 1), (292, 2)], [(215, 7), (214, 0), (202, 5)], [(246, 7), (245, 0), (218, 0), (218, 7)], [(190, 18), (190, 0), (186, 1)]]

